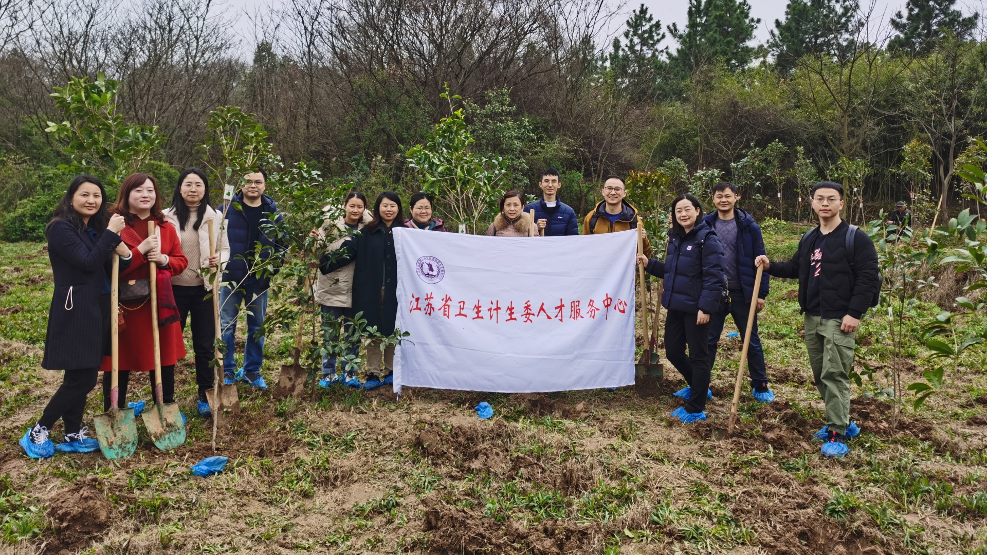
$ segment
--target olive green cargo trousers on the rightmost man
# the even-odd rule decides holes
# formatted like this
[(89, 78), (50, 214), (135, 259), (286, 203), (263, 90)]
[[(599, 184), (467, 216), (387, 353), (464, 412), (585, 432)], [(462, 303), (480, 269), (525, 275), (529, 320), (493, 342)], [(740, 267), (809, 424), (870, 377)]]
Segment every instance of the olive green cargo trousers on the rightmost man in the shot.
[(850, 371), (854, 367), (857, 333), (840, 330), (834, 318), (805, 315), (805, 350), (812, 376), (826, 404), (826, 426), (837, 434), (850, 426)]

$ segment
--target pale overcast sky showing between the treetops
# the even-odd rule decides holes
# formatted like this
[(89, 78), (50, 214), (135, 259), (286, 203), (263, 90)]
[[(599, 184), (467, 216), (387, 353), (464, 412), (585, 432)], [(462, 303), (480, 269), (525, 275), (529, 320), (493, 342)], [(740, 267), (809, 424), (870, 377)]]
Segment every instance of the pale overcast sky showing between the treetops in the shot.
[[(624, 12), (629, 16), (632, 10), (637, 9), (644, 2), (651, 15), (661, 21), (662, 28), (677, 23), (679, 28), (683, 28), (686, 23), (686, 11), (689, 7), (687, 0), (626, 0)], [(898, 10), (904, 10), (906, 0), (862, 0), (862, 5), (870, 5), (873, 1), (873, 15), (875, 19), (887, 21)], [(987, 0), (958, 0), (956, 5), (964, 12), (971, 11), (984, 12), (984, 2)], [(789, 0), (748, 0), (751, 5), (751, 16), (760, 18), (761, 23), (755, 32), (754, 43), (764, 42), (769, 38), (769, 32), (775, 28), (776, 19), (785, 19), (785, 6)], [(239, 13), (236, 29), (244, 38), (245, 46), (250, 49), (254, 42), (254, 32), (251, 29), (247, 13), (254, 13), (256, 10), (263, 10), (270, 4), (279, 5), (281, 0), (227, 0), (227, 6), (231, 12)], [(232, 14), (231, 14), (232, 15)], [(626, 17), (617, 18), (624, 21)], [(672, 46), (675, 41), (671, 38), (665, 40), (664, 45)]]

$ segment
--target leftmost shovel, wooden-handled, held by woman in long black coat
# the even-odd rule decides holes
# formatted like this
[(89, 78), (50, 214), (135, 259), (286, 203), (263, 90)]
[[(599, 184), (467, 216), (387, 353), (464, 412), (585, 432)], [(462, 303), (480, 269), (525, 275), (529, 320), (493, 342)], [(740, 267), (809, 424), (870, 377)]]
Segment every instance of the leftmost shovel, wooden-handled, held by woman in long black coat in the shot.
[(100, 441), (100, 450), (107, 458), (126, 458), (137, 450), (137, 423), (133, 420), (133, 407), (125, 409), (119, 406), (119, 268), (120, 258), (114, 254), (114, 274), (110, 278), (110, 357), (111, 389), (110, 410), (102, 415), (96, 415), (93, 425), (96, 427), (96, 438)]

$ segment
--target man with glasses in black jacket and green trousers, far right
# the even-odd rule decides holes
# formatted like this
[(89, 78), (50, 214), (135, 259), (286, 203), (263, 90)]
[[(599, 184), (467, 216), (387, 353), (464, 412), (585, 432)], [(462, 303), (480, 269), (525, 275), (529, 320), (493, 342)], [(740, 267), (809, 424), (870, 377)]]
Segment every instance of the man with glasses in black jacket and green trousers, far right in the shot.
[(873, 241), (840, 218), (843, 186), (817, 183), (809, 198), (819, 225), (802, 235), (795, 257), (770, 262), (762, 255), (754, 264), (776, 278), (798, 278), (805, 349), (826, 404), (826, 426), (815, 437), (825, 441), (823, 455), (843, 456), (850, 450), (846, 440), (860, 434), (850, 422), (849, 374), (857, 328), (868, 308), (876, 306), (881, 280)]

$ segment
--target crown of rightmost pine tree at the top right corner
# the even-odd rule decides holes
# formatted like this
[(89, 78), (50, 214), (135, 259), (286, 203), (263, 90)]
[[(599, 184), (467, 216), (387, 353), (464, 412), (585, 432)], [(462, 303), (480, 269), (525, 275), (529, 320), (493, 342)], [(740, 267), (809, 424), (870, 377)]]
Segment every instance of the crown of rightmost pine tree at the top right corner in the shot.
[(977, 25), (977, 14), (963, 17), (953, 9), (956, 0), (908, 0), (907, 15), (900, 11), (891, 18), (891, 27), (898, 35), (889, 40), (890, 50), (927, 52), (946, 35), (960, 40), (969, 38)]

